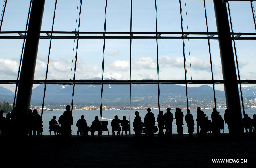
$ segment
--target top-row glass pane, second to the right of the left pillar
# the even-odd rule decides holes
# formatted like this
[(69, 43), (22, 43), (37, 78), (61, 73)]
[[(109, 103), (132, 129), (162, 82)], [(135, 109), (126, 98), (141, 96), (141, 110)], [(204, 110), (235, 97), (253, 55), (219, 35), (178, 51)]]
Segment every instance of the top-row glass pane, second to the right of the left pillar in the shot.
[(79, 8), (77, 2), (73, 0), (57, 2), (53, 31), (77, 30), (77, 16), (79, 17)]

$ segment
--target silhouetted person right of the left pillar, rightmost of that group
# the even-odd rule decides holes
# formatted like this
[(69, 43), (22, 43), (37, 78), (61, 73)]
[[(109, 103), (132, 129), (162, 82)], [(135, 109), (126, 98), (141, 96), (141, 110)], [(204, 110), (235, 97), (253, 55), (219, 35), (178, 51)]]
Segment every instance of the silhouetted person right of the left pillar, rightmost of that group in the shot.
[(36, 135), (42, 135), (42, 119), (41, 116), (38, 114), (38, 111), (36, 109), (33, 110), (32, 115), (32, 130), (33, 130), (33, 136)]

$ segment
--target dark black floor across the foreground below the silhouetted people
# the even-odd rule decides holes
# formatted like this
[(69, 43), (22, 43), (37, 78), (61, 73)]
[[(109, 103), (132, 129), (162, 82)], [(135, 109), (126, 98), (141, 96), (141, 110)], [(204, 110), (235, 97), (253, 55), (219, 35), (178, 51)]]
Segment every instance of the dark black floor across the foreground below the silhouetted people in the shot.
[[(1, 163), (19, 167), (256, 167), (255, 135), (243, 137), (77, 137), (13, 138), (2, 144)], [(10, 153), (9, 153), (9, 152)], [(16, 159), (15, 159), (16, 158)], [(212, 163), (247, 159), (247, 163)], [(1, 164), (2, 165), (2, 164)], [(26, 166), (27, 165), (27, 166)]]

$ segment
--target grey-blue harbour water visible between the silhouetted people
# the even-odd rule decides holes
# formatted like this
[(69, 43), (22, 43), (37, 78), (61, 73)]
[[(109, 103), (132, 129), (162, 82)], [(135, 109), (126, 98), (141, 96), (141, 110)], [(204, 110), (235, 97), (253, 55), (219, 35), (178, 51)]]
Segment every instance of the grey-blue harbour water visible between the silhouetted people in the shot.
[[(161, 109), (161, 110), (163, 110), (164, 113), (166, 112), (165, 109)], [(111, 123), (112, 119), (114, 118), (114, 116), (117, 115), (118, 119), (122, 119), (123, 116), (126, 116), (126, 119), (129, 121), (129, 124), (131, 124), (131, 133), (132, 133), (135, 111), (136, 110), (131, 110), (131, 119), (129, 120), (129, 113), (130, 113), (129, 110), (103, 110), (101, 120), (108, 121), (109, 134), (111, 135), (112, 131), (111, 131), (110, 123)], [(183, 110), (183, 109), (181, 111), (184, 113), (183, 133), (188, 133), (187, 125), (186, 125), (186, 121), (185, 121), (185, 115), (187, 114), (187, 111)], [(206, 116), (208, 116), (209, 119), (211, 119), (210, 115), (212, 114), (212, 109), (203, 109), (203, 111), (206, 114)], [(225, 109), (218, 109), (218, 112), (220, 112), (223, 119), (224, 119), (224, 111), (225, 111)], [(45, 135), (49, 134), (49, 121), (52, 119), (52, 117), (56, 116), (57, 117), (56, 120), (58, 121), (59, 116), (61, 116), (63, 114), (63, 112), (64, 112), (64, 110), (63, 111), (56, 110), (56, 111), (44, 111), (43, 112), (43, 125), (44, 125), (43, 134), (45, 134)], [(155, 118), (157, 119), (158, 110), (153, 109), (151, 112), (154, 114)], [(175, 111), (171, 110), (171, 112), (173, 113), (173, 116), (174, 116)], [(249, 117), (253, 118), (252, 116), (253, 116), (253, 114), (256, 114), (256, 109), (245, 109), (245, 112), (248, 114)], [(147, 113), (147, 110), (139, 110), (139, 116), (141, 117), (142, 121), (144, 121), (144, 117), (145, 117), (146, 113)], [(194, 125), (195, 132), (194, 133), (196, 133), (196, 121), (195, 121), (195, 119), (197, 118), (196, 109), (192, 109), (191, 114), (193, 115), (194, 122), (195, 122), (195, 125)], [(99, 110), (73, 110), (74, 124), (71, 126), (73, 135), (77, 134), (76, 123), (81, 118), (81, 115), (84, 115), (84, 119), (87, 121), (88, 126), (90, 126), (92, 124), (92, 121), (94, 120), (95, 116), (98, 116), (100, 118), (100, 111)], [(156, 121), (156, 125), (158, 126), (157, 121)], [(173, 134), (177, 134), (177, 126), (175, 125), (175, 120), (172, 123), (172, 132), (173, 132)], [(224, 124), (224, 132), (228, 133), (228, 126), (226, 124)], [(105, 132), (103, 132), (103, 134), (108, 134), (108, 133), (105, 131)]]

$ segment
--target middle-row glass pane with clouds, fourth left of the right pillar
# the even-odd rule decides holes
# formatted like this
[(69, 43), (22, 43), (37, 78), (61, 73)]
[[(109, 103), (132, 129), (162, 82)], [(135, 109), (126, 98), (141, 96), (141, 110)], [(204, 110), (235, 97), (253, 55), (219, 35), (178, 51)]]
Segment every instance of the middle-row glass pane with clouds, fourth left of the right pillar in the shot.
[(157, 80), (156, 40), (133, 40), (132, 79)]

